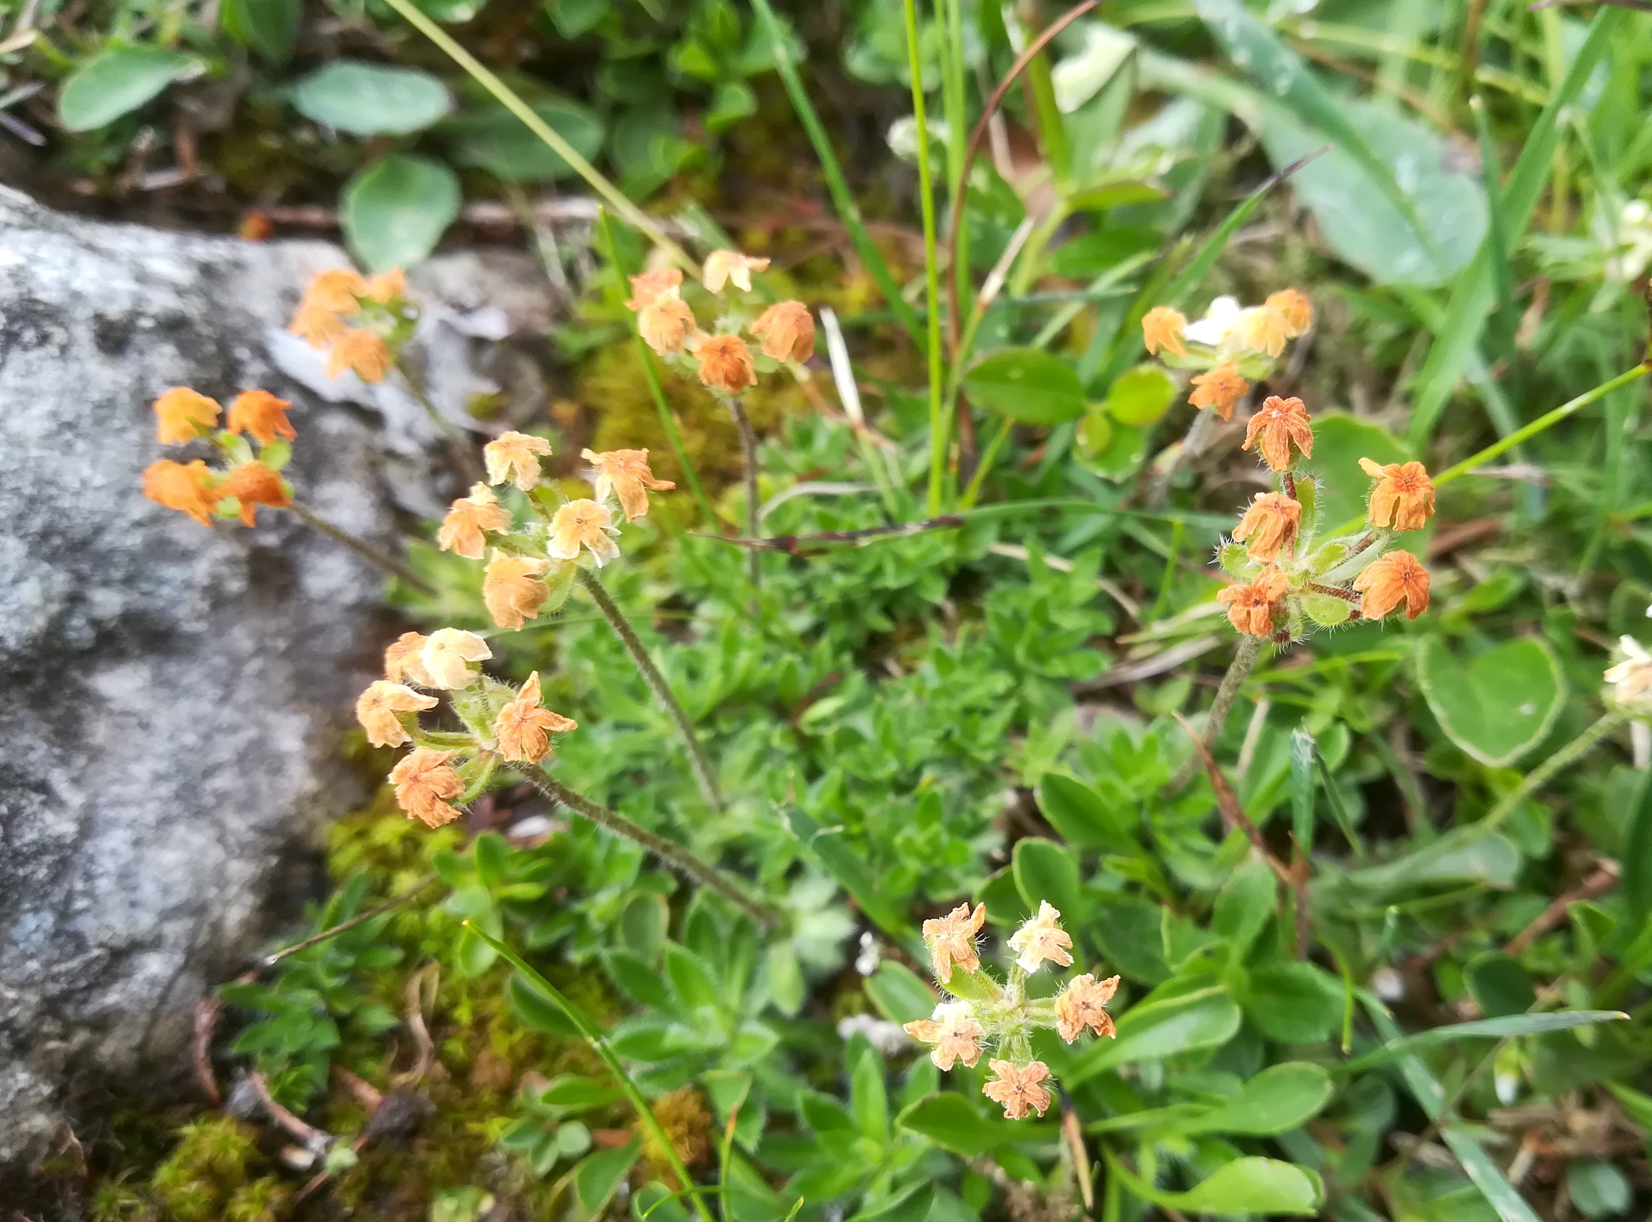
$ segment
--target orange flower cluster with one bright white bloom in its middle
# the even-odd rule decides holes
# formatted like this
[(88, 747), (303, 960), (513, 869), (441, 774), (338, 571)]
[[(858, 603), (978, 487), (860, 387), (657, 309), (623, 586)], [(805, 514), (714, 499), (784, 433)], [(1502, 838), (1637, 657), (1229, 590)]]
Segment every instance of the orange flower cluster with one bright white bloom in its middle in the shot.
[(1313, 306), (1297, 289), (1280, 289), (1260, 306), (1241, 306), (1234, 297), (1218, 297), (1204, 317), (1188, 322), (1168, 306), (1155, 306), (1142, 317), (1146, 350), (1166, 365), (1198, 370), (1193, 375), (1196, 408), (1209, 408), (1232, 419), (1234, 405), (1274, 372), (1285, 343), (1313, 325)]

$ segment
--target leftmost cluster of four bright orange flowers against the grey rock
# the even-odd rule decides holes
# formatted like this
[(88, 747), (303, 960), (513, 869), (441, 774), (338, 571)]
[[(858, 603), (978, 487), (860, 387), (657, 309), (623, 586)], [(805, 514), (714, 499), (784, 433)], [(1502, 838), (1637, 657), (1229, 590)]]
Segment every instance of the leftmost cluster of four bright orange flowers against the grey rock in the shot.
[[(240, 519), (251, 527), (258, 507), (286, 509), (292, 487), (281, 477), (297, 431), (287, 419), (292, 405), (268, 390), (246, 390), (225, 413), (218, 400), (187, 386), (173, 386), (155, 400), (155, 438), (162, 446), (208, 441), (223, 459), (221, 467), (205, 459), (177, 462), (160, 459), (144, 469), (144, 495), (159, 505), (188, 514), (203, 527), (213, 517)], [(220, 416), (223, 428), (218, 426)], [(258, 443), (254, 452), (253, 441)]]

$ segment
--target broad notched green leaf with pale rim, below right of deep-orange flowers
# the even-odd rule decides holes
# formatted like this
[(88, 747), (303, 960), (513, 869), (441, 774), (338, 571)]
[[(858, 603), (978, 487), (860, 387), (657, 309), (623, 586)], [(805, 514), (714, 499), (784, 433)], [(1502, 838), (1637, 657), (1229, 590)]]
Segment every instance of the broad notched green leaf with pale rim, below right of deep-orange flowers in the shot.
[(1431, 636), (1416, 657), (1417, 685), (1441, 730), (1492, 768), (1543, 741), (1566, 700), (1559, 659), (1541, 637), (1505, 641), (1464, 662)]

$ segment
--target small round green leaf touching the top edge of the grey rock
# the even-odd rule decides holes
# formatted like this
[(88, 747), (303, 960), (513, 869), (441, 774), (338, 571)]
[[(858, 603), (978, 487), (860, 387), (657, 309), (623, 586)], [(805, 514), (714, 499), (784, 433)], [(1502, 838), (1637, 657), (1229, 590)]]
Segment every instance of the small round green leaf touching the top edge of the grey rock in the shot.
[(423, 157), (390, 154), (344, 185), (339, 220), (368, 271), (425, 259), (459, 215), (459, 180)]

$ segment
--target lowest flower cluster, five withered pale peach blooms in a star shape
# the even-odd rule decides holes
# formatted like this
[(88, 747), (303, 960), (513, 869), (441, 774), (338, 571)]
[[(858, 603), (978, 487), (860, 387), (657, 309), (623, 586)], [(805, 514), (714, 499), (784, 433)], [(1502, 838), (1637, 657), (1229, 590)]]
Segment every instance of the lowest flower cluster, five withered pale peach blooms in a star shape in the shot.
[(1049, 1092), (1041, 1083), (1051, 1073), (1049, 1065), (1032, 1059), (1032, 1032), (1054, 1027), (1067, 1044), (1085, 1030), (1112, 1039), (1117, 1032), (1107, 1002), (1118, 991), (1118, 978), (1099, 981), (1085, 973), (1067, 981), (1052, 999), (1029, 999), (1029, 973), (1046, 963), (1072, 966), (1072, 936), (1061, 928), (1061, 913), (1041, 900), (1037, 915), (1009, 935), (1009, 950), (1016, 958), (1003, 984), (981, 969), (976, 954), (975, 938), (985, 921), (985, 903), (975, 905), (973, 912), (968, 903), (960, 903), (945, 916), (923, 921), (923, 945), (935, 979), (953, 1001), (943, 1001), (928, 1019), (909, 1022), (905, 1030), (912, 1039), (933, 1045), (930, 1060), (942, 1070), (958, 1062), (973, 1068), (983, 1050), (995, 1045), (999, 1055), (986, 1062), (993, 1077), (981, 1093), (1003, 1106), (1009, 1120), (1023, 1120), (1034, 1111), (1042, 1116)]

